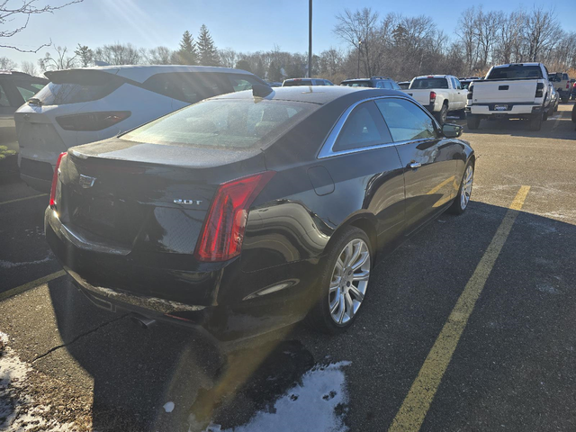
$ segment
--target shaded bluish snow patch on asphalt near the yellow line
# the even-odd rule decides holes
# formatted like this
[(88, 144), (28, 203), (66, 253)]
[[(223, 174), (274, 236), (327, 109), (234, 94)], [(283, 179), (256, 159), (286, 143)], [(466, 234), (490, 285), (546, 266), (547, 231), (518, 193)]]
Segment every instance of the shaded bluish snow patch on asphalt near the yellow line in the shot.
[[(275, 401), (272, 412), (259, 411), (246, 425), (221, 432), (346, 432), (342, 413), (346, 412), (348, 396), (342, 368), (347, 365), (350, 362), (315, 365), (302, 375), (302, 384), (295, 385)], [(220, 430), (220, 425), (210, 425), (204, 432)]]

